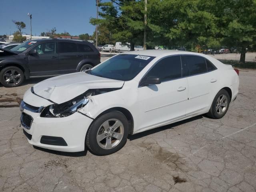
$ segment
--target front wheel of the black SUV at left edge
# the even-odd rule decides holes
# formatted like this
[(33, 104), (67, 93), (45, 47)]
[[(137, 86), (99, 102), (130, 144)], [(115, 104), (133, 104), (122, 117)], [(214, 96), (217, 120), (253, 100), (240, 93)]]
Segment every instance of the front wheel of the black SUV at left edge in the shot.
[[(8, 79), (6, 75), (10, 75), (10, 78), (12, 78), (9, 82), (6, 82)], [(6, 67), (0, 71), (0, 82), (4, 87), (18, 87), (23, 83), (24, 79), (23, 71), (16, 66)]]

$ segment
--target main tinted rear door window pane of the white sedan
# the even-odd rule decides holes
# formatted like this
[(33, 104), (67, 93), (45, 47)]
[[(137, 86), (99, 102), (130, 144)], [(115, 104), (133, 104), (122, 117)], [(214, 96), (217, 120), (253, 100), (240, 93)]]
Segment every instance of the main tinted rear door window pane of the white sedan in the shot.
[(193, 55), (185, 55), (182, 57), (186, 65), (188, 65), (189, 75), (207, 72), (206, 62), (203, 57)]

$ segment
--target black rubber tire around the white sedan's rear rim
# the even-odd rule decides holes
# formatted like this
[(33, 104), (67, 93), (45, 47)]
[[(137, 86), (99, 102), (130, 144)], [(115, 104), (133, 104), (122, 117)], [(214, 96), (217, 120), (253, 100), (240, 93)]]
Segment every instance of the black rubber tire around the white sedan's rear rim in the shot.
[[(216, 109), (217, 108), (217, 101), (218, 101), (218, 98), (220, 98), (220, 96), (222, 96), (222, 95), (226, 96), (226, 98), (227, 98), (227, 102), (226, 102), (227, 106), (226, 106), (225, 111), (222, 112), (221, 114), (219, 114), (218, 111), (220, 111), (220, 110)], [(216, 94), (216, 96), (215, 96), (215, 98), (212, 102), (212, 106), (211, 106), (209, 112), (207, 113), (207, 115), (210, 116), (211, 118), (214, 118), (214, 119), (220, 119), (228, 111), (229, 104), (230, 104), (230, 96), (229, 96), (229, 94), (226, 90), (222, 89)]]

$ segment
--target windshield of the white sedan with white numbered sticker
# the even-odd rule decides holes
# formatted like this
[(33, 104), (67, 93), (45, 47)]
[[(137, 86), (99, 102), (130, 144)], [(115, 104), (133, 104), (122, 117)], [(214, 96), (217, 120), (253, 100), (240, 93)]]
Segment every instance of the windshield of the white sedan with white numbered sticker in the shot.
[(152, 56), (119, 54), (87, 73), (109, 79), (129, 81), (154, 58)]

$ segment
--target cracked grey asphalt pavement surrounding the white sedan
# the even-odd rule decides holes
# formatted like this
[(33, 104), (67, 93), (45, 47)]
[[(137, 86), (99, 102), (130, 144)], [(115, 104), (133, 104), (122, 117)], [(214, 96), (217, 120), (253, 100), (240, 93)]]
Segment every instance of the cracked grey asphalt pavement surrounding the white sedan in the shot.
[[(33, 147), (19, 108), (0, 108), (0, 191), (255, 192), (256, 70), (239, 77), (238, 97), (222, 119), (197, 116), (129, 136), (109, 156)], [(0, 87), (0, 94), (20, 98), (30, 86)]]

